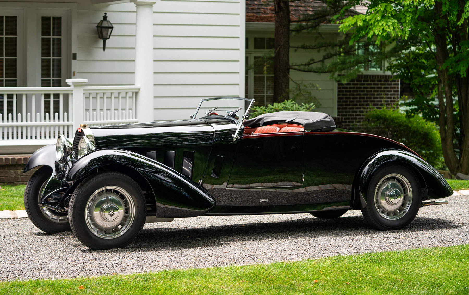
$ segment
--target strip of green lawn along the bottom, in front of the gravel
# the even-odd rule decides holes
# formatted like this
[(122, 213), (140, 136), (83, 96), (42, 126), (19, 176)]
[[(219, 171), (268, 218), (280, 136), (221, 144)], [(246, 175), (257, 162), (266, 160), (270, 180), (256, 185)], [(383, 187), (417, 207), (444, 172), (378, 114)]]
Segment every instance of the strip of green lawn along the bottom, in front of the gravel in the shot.
[[(469, 245), (0, 283), (0, 294), (469, 294)], [(82, 286), (80, 288), (80, 286)]]

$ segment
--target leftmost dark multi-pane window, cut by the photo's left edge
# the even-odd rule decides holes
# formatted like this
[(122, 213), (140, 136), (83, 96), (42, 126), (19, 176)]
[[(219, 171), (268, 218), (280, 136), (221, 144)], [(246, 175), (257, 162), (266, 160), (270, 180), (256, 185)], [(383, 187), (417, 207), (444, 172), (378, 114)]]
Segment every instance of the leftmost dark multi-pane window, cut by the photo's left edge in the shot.
[[(0, 87), (16, 87), (18, 83), (17, 23), (15, 15), (0, 15)], [(6, 107), (4, 103), (0, 95), (0, 113), (6, 119), (13, 112), (13, 94), (7, 95)]]

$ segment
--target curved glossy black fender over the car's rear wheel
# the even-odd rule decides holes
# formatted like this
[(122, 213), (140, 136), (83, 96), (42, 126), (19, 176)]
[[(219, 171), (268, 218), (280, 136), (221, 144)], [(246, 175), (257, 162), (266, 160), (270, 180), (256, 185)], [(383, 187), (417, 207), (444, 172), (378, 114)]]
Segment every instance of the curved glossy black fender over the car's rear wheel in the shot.
[(368, 158), (358, 171), (354, 181), (354, 199), (350, 206), (363, 209), (368, 202), (368, 189), (373, 174), (382, 166), (401, 164), (411, 169), (421, 186), (422, 200), (449, 197), (453, 190), (445, 179), (423, 159), (402, 150), (379, 151)]

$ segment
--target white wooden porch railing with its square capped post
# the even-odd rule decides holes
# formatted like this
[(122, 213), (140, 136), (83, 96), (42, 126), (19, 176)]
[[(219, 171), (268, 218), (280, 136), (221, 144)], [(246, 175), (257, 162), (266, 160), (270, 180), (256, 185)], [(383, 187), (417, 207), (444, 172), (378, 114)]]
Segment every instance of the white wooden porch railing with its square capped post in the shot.
[[(79, 124), (89, 126), (136, 123), (139, 86), (0, 87), (0, 146), (71, 139)], [(1, 152), (0, 152), (1, 153)]]

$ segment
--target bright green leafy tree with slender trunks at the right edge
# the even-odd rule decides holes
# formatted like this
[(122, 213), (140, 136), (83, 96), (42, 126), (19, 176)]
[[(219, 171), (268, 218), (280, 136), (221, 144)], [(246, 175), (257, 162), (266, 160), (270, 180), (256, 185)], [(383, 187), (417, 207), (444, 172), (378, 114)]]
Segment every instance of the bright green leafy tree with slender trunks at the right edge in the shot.
[(453, 174), (469, 174), (468, 17), (469, 2), (464, 0), (370, 0), (366, 14), (350, 16), (340, 26), (351, 34), (350, 44), (415, 39), (421, 45), (409, 49), (415, 52), (425, 45), (431, 56), (425, 70), (436, 72), (443, 156)]

